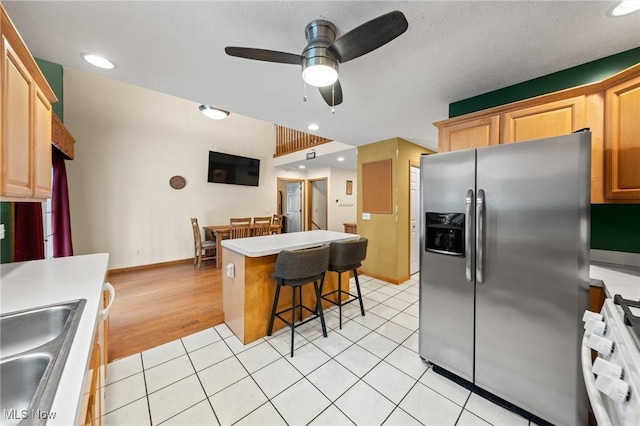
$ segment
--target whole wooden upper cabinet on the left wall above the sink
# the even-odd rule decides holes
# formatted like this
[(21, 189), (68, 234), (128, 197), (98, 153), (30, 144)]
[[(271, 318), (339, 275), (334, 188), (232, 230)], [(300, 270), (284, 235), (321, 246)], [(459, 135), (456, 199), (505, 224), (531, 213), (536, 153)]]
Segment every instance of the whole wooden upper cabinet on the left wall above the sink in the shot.
[(0, 4), (0, 198), (51, 196), (51, 103), (57, 102)]

